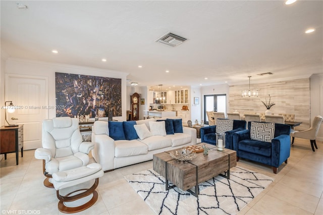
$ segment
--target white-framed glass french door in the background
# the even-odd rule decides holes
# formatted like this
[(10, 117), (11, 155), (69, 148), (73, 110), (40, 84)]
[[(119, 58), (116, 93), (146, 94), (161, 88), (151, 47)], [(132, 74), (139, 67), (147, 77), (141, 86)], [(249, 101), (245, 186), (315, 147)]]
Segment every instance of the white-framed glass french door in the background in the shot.
[(208, 125), (207, 111), (224, 112), (227, 115), (227, 95), (204, 95), (204, 122)]

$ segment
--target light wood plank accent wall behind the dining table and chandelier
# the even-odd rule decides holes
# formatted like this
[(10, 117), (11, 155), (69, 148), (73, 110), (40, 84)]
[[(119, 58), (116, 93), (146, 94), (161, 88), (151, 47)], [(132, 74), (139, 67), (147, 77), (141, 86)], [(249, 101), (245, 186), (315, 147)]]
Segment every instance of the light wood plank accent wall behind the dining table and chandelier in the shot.
[(310, 127), (310, 79), (302, 78), (288, 81), (250, 84), (250, 89), (258, 89), (258, 97), (241, 97), (241, 90), (249, 89), (249, 84), (232, 85), (229, 88), (229, 113), (237, 110), (241, 116), (244, 113), (264, 113), (266, 107), (261, 101), (271, 95), (276, 103), (270, 111), (275, 115), (280, 113), (295, 114), (295, 121), (303, 122), (296, 130)]

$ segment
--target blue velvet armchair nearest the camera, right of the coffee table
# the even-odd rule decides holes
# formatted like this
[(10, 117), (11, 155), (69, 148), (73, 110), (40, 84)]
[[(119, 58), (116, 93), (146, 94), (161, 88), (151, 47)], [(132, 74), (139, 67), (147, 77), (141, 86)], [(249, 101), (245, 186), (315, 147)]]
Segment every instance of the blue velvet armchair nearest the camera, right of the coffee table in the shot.
[[(259, 141), (252, 138), (253, 135), (261, 132), (252, 132), (252, 122), (248, 122), (248, 129), (238, 131), (233, 134), (233, 149), (237, 151), (237, 161), (239, 158), (246, 158), (254, 162), (273, 167), (273, 172), (277, 174), (278, 167), (290, 156), (291, 138), (289, 125), (275, 123), (273, 129), (274, 138), (270, 141)], [(265, 124), (257, 122), (258, 125)], [(250, 134), (251, 133), (251, 134)], [(256, 133), (256, 134), (253, 134)]]

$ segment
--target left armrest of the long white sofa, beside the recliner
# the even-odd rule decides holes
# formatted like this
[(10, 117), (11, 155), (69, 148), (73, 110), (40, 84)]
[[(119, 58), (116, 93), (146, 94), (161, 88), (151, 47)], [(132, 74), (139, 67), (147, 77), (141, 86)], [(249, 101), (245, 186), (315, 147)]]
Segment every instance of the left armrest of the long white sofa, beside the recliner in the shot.
[(102, 170), (113, 170), (115, 168), (115, 140), (106, 134), (94, 134), (92, 132), (92, 156), (96, 163), (102, 166)]

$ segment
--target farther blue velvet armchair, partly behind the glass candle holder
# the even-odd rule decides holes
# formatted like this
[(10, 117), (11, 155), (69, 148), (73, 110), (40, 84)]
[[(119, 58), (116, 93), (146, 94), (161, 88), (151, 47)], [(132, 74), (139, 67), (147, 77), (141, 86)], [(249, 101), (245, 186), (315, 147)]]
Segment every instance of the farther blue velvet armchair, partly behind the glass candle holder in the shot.
[[(216, 145), (216, 128), (217, 125), (207, 126), (200, 129), (201, 142)], [(226, 148), (233, 149), (233, 133), (246, 129), (246, 122), (241, 120), (233, 120), (233, 129), (226, 133)]]

